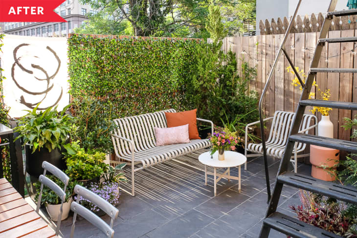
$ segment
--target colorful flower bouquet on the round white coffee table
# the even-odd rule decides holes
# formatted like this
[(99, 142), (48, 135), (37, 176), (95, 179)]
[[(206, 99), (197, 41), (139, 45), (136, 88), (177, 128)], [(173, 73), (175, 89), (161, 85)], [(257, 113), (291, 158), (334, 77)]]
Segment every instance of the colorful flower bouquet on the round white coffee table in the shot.
[(236, 149), (236, 145), (240, 142), (237, 137), (237, 132), (232, 132), (227, 128), (224, 128), (222, 131), (214, 132), (211, 136), (210, 141), (212, 143), (211, 155), (216, 151), (227, 151)]

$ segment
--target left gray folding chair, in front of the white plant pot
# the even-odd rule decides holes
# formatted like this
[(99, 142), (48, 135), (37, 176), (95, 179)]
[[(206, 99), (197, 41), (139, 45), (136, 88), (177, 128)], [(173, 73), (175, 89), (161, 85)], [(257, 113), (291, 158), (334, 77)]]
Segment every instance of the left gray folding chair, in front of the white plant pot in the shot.
[[(61, 218), (62, 218), (62, 211), (63, 211), (62, 207), (63, 207), (63, 202), (66, 200), (66, 188), (68, 185), (69, 177), (66, 175), (66, 173), (63, 173), (56, 166), (54, 166), (46, 161), (44, 161), (42, 163), (42, 168), (44, 169), (44, 174), (41, 174), (39, 177), (39, 181), (41, 182), (41, 189), (40, 189), (39, 199), (37, 201), (36, 212), (39, 213), (39, 210), (40, 210), (42, 190), (43, 190), (44, 184), (45, 184), (48, 188), (50, 188), (53, 192), (55, 192), (61, 199), (61, 208), (60, 208), (60, 213), (58, 214), (57, 227), (56, 227), (56, 236), (57, 236), (60, 232)], [(46, 171), (49, 171), (54, 176), (56, 176), (58, 179), (60, 179), (65, 184), (65, 187), (62, 189), (55, 182), (53, 182), (51, 179), (47, 178)]]

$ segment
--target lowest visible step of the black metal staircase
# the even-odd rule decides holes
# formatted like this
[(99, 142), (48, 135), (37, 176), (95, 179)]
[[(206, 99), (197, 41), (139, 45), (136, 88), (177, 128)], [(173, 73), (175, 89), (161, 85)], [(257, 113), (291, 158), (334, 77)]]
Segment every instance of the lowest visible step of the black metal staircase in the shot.
[(275, 212), (263, 220), (268, 227), (294, 238), (341, 238), (298, 219)]

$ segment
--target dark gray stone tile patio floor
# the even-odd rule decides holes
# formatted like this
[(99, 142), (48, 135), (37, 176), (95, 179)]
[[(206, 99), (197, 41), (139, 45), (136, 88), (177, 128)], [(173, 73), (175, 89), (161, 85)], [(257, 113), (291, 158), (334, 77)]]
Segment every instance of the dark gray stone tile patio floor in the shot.
[[(222, 179), (213, 195), (213, 177), (204, 185), (203, 165), (197, 151), (177, 160), (135, 173), (135, 193), (121, 193), (119, 216), (114, 221), (117, 238), (256, 238), (267, 209), (267, 189), (263, 158), (248, 158), (242, 166), (242, 192), (238, 181)], [(273, 189), (279, 159), (268, 158), (270, 185)], [(127, 166), (129, 167), (129, 166)], [(290, 169), (293, 170), (290, 165)], [(298, 165), (298, 172), (310, 174), (311, 166)], [(237, 168), (231, 174), (238, 173)], [(130, 179), (130, 168), (126, 168)], [(130, 190), (131, 183), (121, 184)], [(278, 211), (294, 216), (289, 205), (299, 204), (298, 190), (284, 186)], [(109, 216), (102, 216), (109, 221)], [(69, 237), (72, 215), (62, 221), (61, 232)], [(105, 237), (83, 218), (77, 220), (76, 238)], [(271, 231), (271, 238), (286, 238)]]

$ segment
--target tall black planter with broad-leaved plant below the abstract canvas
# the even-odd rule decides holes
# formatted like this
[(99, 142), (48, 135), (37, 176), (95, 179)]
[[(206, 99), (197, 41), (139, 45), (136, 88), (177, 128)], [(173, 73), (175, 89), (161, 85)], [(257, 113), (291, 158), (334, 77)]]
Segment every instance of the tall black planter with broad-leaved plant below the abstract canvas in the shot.
[(39, 105), (23, 116), (15, 131), (19, 133), (16, 139), (22, 138), (26, 151), (26, 171), (33, 177), (44, 172), (42, 162), (48, 161), (63, 170), (62, 146), (66, 144), (73, 117), (65, 114), (67, 107), (61, 112), (56, 108), (47, 108), (37, 112)]

